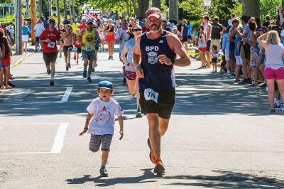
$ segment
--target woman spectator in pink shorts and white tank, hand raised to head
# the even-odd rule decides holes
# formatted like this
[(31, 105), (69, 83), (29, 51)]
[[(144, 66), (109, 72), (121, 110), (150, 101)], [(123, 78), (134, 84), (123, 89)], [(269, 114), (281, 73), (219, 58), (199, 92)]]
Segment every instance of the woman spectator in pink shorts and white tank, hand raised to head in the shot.
[[(266, 39), (266, 41), (265, 41)], [(264, 77), (266, 77), (268, 87), (268, 102), (271, 114), (275, 114), (274, 109), (274, 82), (278, 85), (278, 90), (284, 102), (284, 48), (280, 43), (277, 31), (269, 31), (257, 39), (258, 43), (266, 50), (266, 67)], [(284, 108), (282, 108), (284, 110)]]

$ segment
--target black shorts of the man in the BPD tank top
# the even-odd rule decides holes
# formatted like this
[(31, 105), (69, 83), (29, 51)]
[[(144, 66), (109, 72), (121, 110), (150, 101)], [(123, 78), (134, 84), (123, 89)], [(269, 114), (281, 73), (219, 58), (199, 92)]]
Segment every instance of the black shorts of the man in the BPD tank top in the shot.
[(155, 90), (158, 92), (158, 103), (154, 100), (146, 100), (145, 90), (140, 90), (140, 107), (143, 114), (158, 114), (163, 119), (170, 119), (173, 105), (175, 104), (175, 88), (170, 90)]

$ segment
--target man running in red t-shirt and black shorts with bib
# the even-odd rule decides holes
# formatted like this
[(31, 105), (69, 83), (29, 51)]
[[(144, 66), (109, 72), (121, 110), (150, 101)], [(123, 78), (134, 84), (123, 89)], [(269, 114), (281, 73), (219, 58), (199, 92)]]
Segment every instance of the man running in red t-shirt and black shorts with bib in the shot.
[(58, 58), (57, 43), (59, 43), (59, 41), (60, 32), (55, 29), (55, 20), (50, 19), (49, 28), (40, 35), (40, 43), (43, 43), (43, 60), (45, 61), (46, 72), (48, 72), (48, 75), (51, 73), (50, 85), (54, 85), (55, 62)]

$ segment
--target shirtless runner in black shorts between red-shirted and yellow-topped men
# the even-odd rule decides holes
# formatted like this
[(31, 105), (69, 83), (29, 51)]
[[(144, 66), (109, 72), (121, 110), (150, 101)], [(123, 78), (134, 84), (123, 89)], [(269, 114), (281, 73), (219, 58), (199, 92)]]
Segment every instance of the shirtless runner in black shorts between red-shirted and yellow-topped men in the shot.
[(65, 33), (62, 34), (61, 39), (63, 40), (64, 47), (63, 47), (63, 52), (64, 52), (64, 58), (65, 58), (65, 64), (66, 64), (66, 71), (71, 68), (71, 50), (73, 49), (73, 41), (74, 41), (74, 33), (72, 32), (72, 26), (68, 24), (65, 28)]

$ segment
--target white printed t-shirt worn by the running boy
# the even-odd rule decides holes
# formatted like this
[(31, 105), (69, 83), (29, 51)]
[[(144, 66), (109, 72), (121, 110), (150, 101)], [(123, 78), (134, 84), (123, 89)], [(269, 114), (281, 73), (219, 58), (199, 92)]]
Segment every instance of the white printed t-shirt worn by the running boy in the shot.
[(115, 115), (119, 117), (123, 114), (119, 103), (114, 99), (103, 102), (99, 97), (89, 104), (87, 111), (94, 114), (88, 133), (96, 135), (114, 134)]

